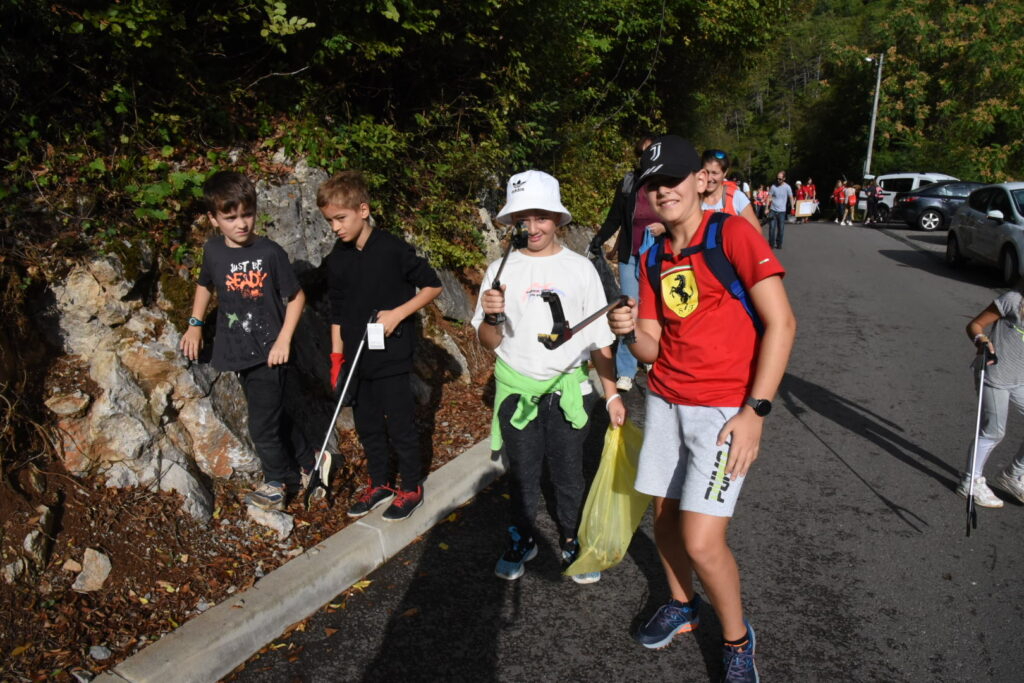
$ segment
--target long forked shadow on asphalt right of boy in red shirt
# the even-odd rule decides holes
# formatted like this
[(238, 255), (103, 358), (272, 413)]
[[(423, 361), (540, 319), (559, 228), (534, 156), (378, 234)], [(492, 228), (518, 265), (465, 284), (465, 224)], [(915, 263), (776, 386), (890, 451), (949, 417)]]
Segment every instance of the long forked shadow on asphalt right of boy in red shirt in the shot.
[(786, 374), (782, 379), (779, 398), (786, 410), (825, 450), (849, 469), (887, 508), (918, 532), (922, 531), (921, 526), (928, 526), (928, 522), (872, 486), (841, 453), (836, 451), (807, 423), (804, 419), (807, 411), (813, 411), (844, 429), (866, 438), (896, 460), (932, 477), (950, 490), (956, 485), (958, 474), (956, 468), (903, 437), (900, 433), (903, 429), (898, 424), (886, 420), (858, 403), (791, 374)]

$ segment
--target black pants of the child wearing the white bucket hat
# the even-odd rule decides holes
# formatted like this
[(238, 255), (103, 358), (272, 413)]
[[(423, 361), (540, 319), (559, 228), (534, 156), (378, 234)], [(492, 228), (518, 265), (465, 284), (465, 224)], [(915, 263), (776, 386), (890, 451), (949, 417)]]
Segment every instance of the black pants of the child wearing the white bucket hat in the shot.
[[(512, 523), (523, 537), (536, 536), (534, 520), (541, 501), (541, 477), (548, 464), (555, 493), (555, 516), (563, 539), (574, 539), (580, 526), (583, 494), (583, 442), (590, 424), (573, 429), (558, 405), (558, 394), (546, 394), (538, 404), (538, 415), (522, 429), (512, 426), (519, 395), (506, 398), (498, 409), (502, 440), (509, 459), (509, 488)], [(588, 410), (594, 394), (584, 396)]]

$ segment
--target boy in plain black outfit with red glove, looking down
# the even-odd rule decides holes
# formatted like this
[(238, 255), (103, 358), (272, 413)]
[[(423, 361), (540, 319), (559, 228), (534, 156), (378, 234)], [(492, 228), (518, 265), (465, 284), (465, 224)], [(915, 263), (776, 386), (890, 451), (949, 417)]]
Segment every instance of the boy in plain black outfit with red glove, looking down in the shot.
[[(394, 499), (384, 518), (406, 519), (423, 503), (409, 376), (415, 337), (412, 315), (441, 293), (441, 283), (412, 246), (374, 228), (370, 193), (358, 171), (343, 171), (321, 185), (316, 206), (338, 236), (327, 258), (332, 386), (337, 390), (344, 384), (339, 381), (344, 351), (354, 360), (373, 311), (378, 311), (376, 319), (384, 326), (386, 337), (384, 349), (364, 347), (352, 378), (354, 394), (349, 388), (370, 482), (348, 516), (361, 517)], [(389, 442), (397, 454), (400, 486), (394, 486), (390, 476)]]

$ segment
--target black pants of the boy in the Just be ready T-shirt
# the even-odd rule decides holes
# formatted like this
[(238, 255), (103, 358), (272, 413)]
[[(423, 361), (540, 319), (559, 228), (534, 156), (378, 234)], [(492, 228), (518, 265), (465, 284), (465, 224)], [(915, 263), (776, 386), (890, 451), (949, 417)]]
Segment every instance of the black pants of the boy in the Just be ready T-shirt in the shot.
[(249, 436), (266, 481), (299, 484), (299, 470), (316, 462), (312, 446), (300, 427), (301, 414), (295, 401), (285, 400), (288, 366), (254, 366), (238, 373), (249, 404)]

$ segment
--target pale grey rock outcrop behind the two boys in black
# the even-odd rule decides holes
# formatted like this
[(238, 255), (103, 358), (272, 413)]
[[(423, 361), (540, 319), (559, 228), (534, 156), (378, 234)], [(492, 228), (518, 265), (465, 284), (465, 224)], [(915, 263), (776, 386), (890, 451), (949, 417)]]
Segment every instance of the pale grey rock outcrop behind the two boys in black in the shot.
[[(259, 212), (268, 217), (259, 229), (288, 252), (307, 294), (292, 347), (299, 381), (286, 400), (304, 407), (306, 436), (314, 447), (323, 441), (334, 409), (327, 389), (329, 306), (321, 266), (335, 238), (315, 201), (325, 179), (325, 171), (300, 161), (280, 184), (257, 184)], [(488, 251), (500, 254), (503, 234), (488, 229), (486, 212), (481, 220)], [(178, 348), (180, 304), (175, 308), (163, 284), (153, 297), (135, 296), (145, 275), (134, 272), (141, 268), (125, 265), (126, 258), (136, 258), (148, 267), (156, 262), (154, 253), (125, 249), (127, 257), (100, 254), (75, 265), (51, 288), (51, 340), (87, 375), (88, 386), (54, 389), (45, 403), (72, 473), (103, 476), (109, 486), (176, 492), (189, 514), (208, 520), (213, 479), (248, 478), (260, 471), (248, 435), (245, 396), (233, 373), (184, 358)], [(475, 298), (456, 274), (439, 275), (444, 289), (434, 305), (443, 317), (467, 323)], [(154, 303), (143, 303), (147, 298)], [(426, 319), (421, 314), (424, 341), (415, 362), (419, 377), (412, 381), (424, 404), (436, 398), (442, 382), (470, 381), (466, 353)], [(350, 411), (342, 412), (339, 425), (351, 427)]]

